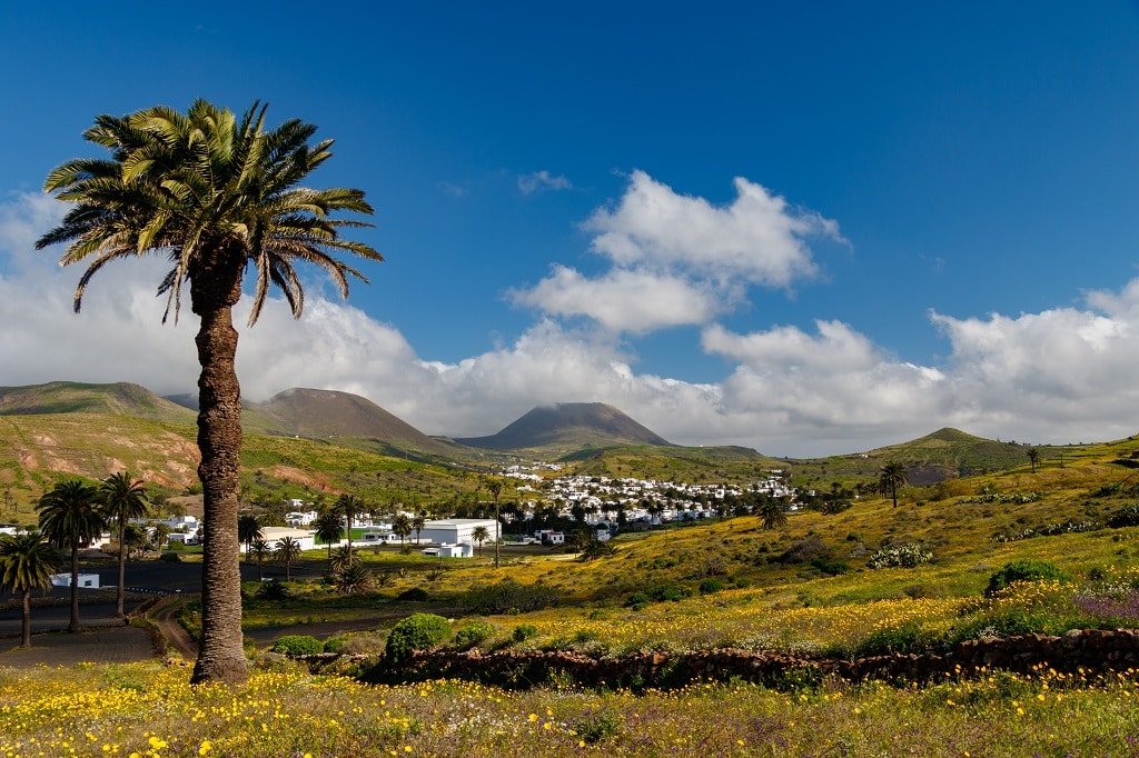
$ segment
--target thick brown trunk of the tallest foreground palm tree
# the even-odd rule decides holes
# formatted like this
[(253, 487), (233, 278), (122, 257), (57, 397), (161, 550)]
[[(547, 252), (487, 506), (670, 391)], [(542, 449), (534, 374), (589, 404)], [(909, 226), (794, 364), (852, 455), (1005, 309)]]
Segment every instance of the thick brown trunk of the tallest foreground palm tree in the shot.
[[(192, 684), (248, 679), (241, 649), (241, 572), (237, 492), (241, 453), (241, 388), (235, 356), (232, 306), (241, 294), (244, 261), (224, 248), (191, 272), (190, 297), (202, 319), (198, 347), (198, 447), (206, 538), (202, 550), (202, 629)], [(211, 287), (213, 283), (215, 287)], [(221, 286), (216, 286), (216, 285)], [(227, 287), (226, 285), (229, 285)]]

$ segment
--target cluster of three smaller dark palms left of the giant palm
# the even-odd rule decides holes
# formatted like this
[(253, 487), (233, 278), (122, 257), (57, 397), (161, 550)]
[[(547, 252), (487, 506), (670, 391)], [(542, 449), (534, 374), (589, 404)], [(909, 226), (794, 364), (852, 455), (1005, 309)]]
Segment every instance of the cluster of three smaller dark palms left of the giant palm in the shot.
[(128, 534), (133, 519), (149, 510), (146, 485), (130, 473), (112, 473), (98, 485), (79, 479), (57, 483), (40, 497), (39, 529), (0, 537), (0, 586), (23, 599), (21, 644), (32, 644), (31, 593), (50, 590), (51, 577), (63, 566), (59, 550), (71, 553), (71, 619), (68, 632), (81, 629), (79, 619), (79, 554), (109, 526), (118, 536), (118, 585), (115, 612), (124, 618)]

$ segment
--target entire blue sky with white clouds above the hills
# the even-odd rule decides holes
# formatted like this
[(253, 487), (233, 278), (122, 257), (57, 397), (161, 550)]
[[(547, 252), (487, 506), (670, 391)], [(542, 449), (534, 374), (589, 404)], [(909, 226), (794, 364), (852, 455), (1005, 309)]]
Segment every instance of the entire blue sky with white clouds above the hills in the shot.
[(1134, 3), (195, 8), (0, 9), (0, 385), (194, 389), (159, 262), (74, 316), (28, 248), (97, 114), (203, 97), (334, 138), (312, 183), (363, 189), (386, 257), (243, 330), (249, 399), (452, 436), (599, 401), (793, 456), (1139, 431)]

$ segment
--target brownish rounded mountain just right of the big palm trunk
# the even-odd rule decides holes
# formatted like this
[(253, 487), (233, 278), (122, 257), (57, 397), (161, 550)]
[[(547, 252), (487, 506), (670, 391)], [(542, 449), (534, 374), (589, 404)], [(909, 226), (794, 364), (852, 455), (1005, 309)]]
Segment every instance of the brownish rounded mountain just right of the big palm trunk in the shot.
[(264, 403), (246, 403), (243, 426), (251, 431), (312, 439), (361, 438), (383, 447), (448, 450), (366, 397), (328, 389), (295, 387)]

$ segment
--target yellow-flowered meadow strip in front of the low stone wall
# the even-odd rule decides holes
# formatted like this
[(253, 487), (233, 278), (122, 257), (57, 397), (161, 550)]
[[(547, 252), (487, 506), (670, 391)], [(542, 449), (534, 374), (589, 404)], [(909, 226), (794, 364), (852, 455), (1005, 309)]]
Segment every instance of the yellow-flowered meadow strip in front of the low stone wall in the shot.
[(0, 669), (0, 756), (1136, 756), (1137, 698), (1136, 673), (633, 695), (368, 686), (280, 662), (230, 691), (181, 666), (84, 664)]

